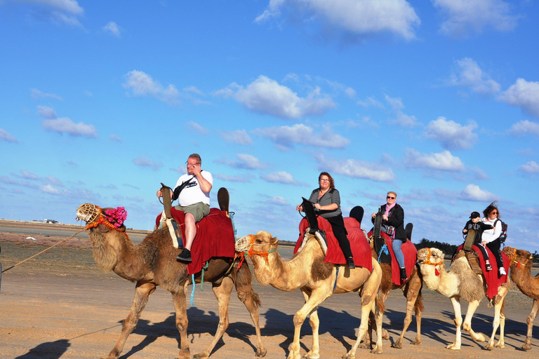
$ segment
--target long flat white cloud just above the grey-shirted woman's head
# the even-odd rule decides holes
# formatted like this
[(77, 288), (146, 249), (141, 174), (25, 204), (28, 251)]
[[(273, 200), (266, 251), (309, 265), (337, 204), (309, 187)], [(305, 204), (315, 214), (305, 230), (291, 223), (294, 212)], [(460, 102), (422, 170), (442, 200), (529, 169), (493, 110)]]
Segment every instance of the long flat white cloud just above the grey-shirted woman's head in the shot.
[(324, 170), (338, 175), (354, 178), (372, 179), (373, 181), (390, 182), (395, 178), (391, 168), (380, 163), (368, 163), (355, 159), (335, 160), (322, 155), (315, 157), (317, 170)]

